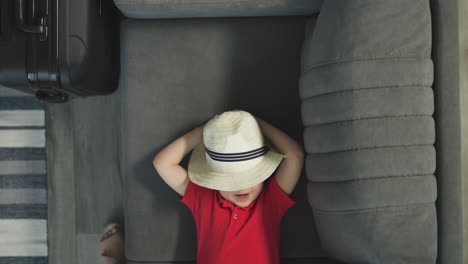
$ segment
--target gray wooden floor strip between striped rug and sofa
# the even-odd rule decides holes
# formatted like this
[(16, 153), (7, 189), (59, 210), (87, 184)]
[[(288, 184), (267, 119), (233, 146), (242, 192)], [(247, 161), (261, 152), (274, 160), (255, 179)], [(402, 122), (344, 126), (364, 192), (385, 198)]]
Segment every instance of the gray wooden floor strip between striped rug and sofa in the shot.
[(103, 227), (123, 221), (118, 96), (117, 91), (45, 107), (49, 263), (101, 263)]

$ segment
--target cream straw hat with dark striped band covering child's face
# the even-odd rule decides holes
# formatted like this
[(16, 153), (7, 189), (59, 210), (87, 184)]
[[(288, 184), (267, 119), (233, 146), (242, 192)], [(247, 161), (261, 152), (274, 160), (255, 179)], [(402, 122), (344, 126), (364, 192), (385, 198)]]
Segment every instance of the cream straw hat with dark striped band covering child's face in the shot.
[(209, 189), (238, 191), (266, 180), (285, 157), (265, 144), (253, 115), (226, 111), (205, 124), (203, 142), (190, 156), (188, 176)]

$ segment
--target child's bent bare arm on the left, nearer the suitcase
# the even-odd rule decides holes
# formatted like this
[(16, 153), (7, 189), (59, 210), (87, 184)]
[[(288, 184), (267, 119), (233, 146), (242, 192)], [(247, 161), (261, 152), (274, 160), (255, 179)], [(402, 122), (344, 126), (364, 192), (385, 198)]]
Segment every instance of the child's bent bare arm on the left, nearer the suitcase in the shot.
[(202, 142), (204, 126), (197, 127), (176, 139), (156, 154), (153, 159), (154, 168), (159, 176), (182, 196), (187, 188), (189, 178), (187, 170), (179, 163), (187, 153)]

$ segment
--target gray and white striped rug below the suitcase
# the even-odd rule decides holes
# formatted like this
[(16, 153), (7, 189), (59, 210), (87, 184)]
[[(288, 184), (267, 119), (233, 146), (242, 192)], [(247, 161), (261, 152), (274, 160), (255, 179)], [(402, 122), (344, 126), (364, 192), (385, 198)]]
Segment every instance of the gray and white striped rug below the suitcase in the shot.
[(47, 260), (44, 103), (0, 86), (0, 264)]

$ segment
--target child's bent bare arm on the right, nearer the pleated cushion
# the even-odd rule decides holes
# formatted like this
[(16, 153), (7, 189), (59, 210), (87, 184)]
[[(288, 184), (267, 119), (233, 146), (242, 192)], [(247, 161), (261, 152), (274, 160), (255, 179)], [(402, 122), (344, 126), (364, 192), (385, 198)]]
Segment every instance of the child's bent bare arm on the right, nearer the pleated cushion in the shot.
[(283, 131), (258, 117), (255, 118), (265, 137), (273, 143), (280, 153), (286, 155), (274, 176), (281, 189), (290, 195), (301, 176), (304, 165), (304, 149)]

